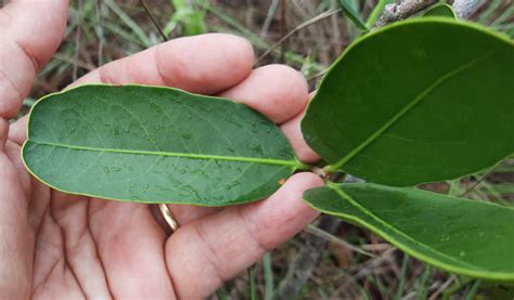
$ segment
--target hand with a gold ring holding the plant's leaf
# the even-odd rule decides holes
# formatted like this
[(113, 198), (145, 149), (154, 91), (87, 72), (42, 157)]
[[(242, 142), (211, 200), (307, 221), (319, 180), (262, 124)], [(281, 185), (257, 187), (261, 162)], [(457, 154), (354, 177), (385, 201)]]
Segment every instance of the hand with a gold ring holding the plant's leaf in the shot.
[[(11, 1), (0, 10), (0, 299), (198, 299), (287, 240), (318, 213), (301, 201), (319, 186), (303, 172), (268, 199), (228, 208), (170, 205), (170, 237), (147, 205), (52, 191), (20, 157), (26, 119), (14, 118), (34, 78), (59, 47), (67, 1)], [(299, 131), (308, 101), (300, 74), (252, 69), (242, 38), (180, 38), (106, 64), (74, 84), (169, 86), (242, 102), (281, 126), (304, 161), (318, 156)]]

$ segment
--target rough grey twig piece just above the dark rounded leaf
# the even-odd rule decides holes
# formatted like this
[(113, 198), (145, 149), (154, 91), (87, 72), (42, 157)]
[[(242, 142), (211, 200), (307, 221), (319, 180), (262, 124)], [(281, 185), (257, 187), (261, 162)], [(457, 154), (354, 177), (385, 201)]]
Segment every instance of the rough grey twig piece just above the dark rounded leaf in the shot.
[(396, 3), (385, 5), (384, 12), (373, 26), (373, 29), (407, 18), (423, 11), (437, 1), (438, 0), (397, 0)]

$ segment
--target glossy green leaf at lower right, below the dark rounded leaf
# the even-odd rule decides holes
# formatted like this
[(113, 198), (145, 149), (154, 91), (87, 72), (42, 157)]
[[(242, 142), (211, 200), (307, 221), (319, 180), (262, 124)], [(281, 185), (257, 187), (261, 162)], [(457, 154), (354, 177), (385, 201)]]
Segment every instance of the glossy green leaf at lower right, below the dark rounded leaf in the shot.
[(514, 281), (514, 209), (371, 183), (307, 191), (314, 209), (364, 226), (404, 252), (473, 277)]

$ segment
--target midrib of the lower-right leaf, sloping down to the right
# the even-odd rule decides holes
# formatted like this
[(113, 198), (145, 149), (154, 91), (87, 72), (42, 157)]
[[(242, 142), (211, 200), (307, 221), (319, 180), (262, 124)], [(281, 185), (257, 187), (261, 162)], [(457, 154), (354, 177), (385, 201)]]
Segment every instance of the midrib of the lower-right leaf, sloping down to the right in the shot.
[[(428, 251), (432, 251), (434, 253), (437, 253), (439, 255), (440, 257), (442, 258), (446, 258), (450, 261), (453, 261), (453, 262), (457, 262), (461, 265), (467, 265), (467, 268), (471, 268), (471, 269), (474, 269), (474, 270), (477, 270), (477, 271), (486, 271), (485, 269), (483, 268), (479, 268), (475, 264), (470, 264), (465, 261), (462, 261), (462, 260), (459, 260), (459, 259), (455, 259), (454, 257), (451, 257), (451, 256), (448, 256), (446, 253), (442, 253), (423, 243), (420, 243), (417, 242), (415, 238), (409, 236), (408, 234), (406, 234), (404, 232), (398, 230), (397, 227), (393, 226), (391, 224), (389, 224), (388, 222), (382, 220), (382, 218), (377, 217), (376, 214), (374, 214), (373, 212), (371, 212), (370, 210), (368, 210), (367, 208), (364, 208), (363, 206), (361, 206), (357, 200), (355, 200), (350, 195), (346, 194), (343, 188), (338, 185), (338, 184), (335, 184), (335, 183), (327, 183), (326, 186), (329, 188), (331, 188), (332, 191), (334, 191), (337, 196), (342, 197), (343, 199), (346, 199), (351, 206), (354, 206), (357, 210), (359, 210), (360, 212), (362, 212), (363, 214), (370, 217), (370, 219), (374, 220), (375, 222), (377, 222), (378, 224), (383, 225), (384, 227), (390, 230), (391, 232), (402, 236), (403, 238), (408, 239), (409, 242), (417, 245), (419, 247), (422, 247)], [(363, 221), (363, 220), (362, 220)], [(365, 222), (365, 221), (364, 221)], [(390, 237), (390, 235), (388, 234), (381, 234), (382, 236), (389, 236), (389, 238), (394, 239), (393, 237)], [(412, 249), (412, 248), (410, 248)], [(417, 251), (419, 252), (419, 251)]]

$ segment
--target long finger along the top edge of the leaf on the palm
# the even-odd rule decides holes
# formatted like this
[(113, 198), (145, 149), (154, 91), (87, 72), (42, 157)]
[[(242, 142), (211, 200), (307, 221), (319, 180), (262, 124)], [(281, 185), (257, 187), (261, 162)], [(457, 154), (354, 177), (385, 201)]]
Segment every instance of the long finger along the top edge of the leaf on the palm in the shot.
[(254, 51), (245, 39), (208, 34), (175, 39), (108, 63), (78, 79), (82, 83), (168, 86), (192, 93), (214, 94), (243, 79)]

